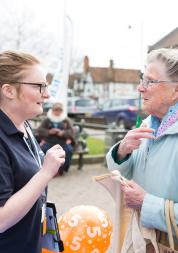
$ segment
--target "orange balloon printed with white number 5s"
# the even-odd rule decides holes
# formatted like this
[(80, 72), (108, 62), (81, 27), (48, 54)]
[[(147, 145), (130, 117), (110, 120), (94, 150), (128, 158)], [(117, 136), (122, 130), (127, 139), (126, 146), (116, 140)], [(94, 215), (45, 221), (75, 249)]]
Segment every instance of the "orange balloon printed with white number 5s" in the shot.
[(112, 222), (95, 206), (76, 206), (58, 221), (65, 253), (104, 253), (110, 245)]

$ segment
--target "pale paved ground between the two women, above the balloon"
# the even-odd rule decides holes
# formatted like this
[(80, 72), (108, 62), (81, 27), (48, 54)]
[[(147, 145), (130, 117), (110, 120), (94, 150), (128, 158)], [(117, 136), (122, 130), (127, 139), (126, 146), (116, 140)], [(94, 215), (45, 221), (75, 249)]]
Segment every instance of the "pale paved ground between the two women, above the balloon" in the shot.
[[(54, 178), (49, 184), (48, 199), (56, 203), (57, 215), (78, 205), (94, 205), (108, 212), (113, 220), (114, 202), (109, 193), (93, 180), (94, 176), (107, 173), (101, 164), (85, 165), (82, 171), (71, 166), (63, 177)], [(107, 253), (113, 253), (112, 244)]]

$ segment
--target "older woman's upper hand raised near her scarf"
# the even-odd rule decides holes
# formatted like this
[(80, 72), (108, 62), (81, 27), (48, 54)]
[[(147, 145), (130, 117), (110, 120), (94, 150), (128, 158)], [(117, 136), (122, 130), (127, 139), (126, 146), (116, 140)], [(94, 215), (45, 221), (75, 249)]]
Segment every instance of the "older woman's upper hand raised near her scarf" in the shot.
[(134, 149), (138, 149), (142, 138), (155, 139), (153, 132), (154, 130), (148, 127), (140, 127), (128, 131), (118, 148), (119, 159), (123, 159), (126, 155), (132, 153)]

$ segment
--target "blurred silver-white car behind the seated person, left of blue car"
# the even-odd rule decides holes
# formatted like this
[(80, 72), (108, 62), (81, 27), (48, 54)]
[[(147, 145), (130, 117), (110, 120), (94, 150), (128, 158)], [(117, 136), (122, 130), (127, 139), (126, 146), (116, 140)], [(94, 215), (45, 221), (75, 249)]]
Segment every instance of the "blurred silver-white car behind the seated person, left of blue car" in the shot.
[(68, 115), (89, 115), (95, 112), (98, 107), (95, 100), (82, 97), (68, 97), (67, 100)]

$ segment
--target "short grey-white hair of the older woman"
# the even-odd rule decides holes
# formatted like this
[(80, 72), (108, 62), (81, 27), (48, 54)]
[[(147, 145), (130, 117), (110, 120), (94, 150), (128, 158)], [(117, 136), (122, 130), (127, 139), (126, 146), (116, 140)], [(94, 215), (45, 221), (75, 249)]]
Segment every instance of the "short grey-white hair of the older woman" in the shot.
[(159, 61), (166, 67), (167, 75), (171, 78), (178, 77), (178, 49), (160, 48), (151, 51), (147, 57), (147, 65)]

